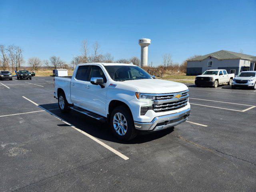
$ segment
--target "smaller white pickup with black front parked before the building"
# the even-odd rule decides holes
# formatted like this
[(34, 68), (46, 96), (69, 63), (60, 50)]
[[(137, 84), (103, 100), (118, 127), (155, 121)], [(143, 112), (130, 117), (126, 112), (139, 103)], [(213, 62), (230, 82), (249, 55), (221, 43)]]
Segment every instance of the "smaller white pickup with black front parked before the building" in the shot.
[(218, 87), (220, 84), (228, 84), (231, 86), (235, 74), (228, 74), (224, 69), (206, 70), (202, 75), (196, 76), (196, 86), (214, 86)]

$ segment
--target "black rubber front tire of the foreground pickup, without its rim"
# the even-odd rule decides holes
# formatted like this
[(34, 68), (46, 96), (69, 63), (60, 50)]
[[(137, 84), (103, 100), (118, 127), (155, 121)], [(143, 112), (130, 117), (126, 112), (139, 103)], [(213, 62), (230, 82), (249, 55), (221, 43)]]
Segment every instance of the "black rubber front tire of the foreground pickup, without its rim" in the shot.
[[(114, 127), (114, 116), (118, 113), (122, 114), (122, 116), (124, 116), (124, 118), (126, 119), (126, 122), (127, 122), (126, 132), (124, 135), (118, 134), (118, 131), (116, 131), (116, 129)], [(137, 132), (136, 132), (136, 129), (134, 126), (132, 114), (126, 106), (117, 106), (116, 108), (114, 108), (114, 110), (112, 111), (111, 116), (110, 116), (110, 127), (111, 127), (113, 134), (120, 140), (128, 141), (137, 136)], [(120, 132), (122, 132), (122, 131), (120, 131)]]

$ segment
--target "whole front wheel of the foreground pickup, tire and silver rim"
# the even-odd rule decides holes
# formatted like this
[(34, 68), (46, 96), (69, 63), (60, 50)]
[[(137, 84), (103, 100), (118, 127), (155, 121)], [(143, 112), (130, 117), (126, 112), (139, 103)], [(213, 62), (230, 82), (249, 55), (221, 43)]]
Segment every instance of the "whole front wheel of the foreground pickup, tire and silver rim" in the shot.
[(137, 136), (130, 110), (125, 106), (114, 108), (110, 117), (110, 126), (114, 135), (120, 140), (131, 140)]

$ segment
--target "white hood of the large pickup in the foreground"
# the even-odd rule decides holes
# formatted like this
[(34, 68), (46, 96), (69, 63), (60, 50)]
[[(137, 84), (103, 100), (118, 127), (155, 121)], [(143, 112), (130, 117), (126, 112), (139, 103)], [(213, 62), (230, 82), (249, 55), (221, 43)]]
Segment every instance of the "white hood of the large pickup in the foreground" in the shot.
[(161, 79), (128, 80), (122, 84), (136, 87), (140, 93), (175, 93), (188, 90), (183, 83)]

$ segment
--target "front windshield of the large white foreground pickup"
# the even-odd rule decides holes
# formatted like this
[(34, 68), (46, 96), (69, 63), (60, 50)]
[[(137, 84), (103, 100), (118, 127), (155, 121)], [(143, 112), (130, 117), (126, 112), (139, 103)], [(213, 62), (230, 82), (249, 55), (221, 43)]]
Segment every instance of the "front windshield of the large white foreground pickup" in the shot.
[(127, 81), (136, 79), (151, 79), (146, 71), (138, 66), (104, 66), (114, 81)]

